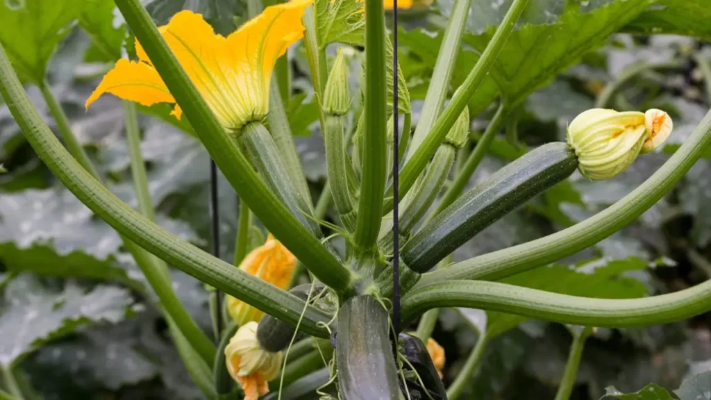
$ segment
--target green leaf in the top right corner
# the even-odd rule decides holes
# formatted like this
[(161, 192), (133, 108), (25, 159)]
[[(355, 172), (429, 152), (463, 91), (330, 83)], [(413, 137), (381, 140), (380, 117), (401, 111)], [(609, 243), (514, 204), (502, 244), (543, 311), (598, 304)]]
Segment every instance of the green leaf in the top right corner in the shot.
[(629, 33), (670, 33), (711, 41), (706, 0), (661, 0), (623, 28)]

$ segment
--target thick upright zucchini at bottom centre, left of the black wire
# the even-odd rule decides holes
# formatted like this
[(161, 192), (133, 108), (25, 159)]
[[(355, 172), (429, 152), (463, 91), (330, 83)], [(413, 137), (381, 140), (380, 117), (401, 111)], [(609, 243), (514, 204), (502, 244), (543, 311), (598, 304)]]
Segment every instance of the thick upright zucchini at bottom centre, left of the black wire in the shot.
[(368, 295), (338, 310), (336, 367), (341, 399), (400, 400), (400, 384), (383, 305)]

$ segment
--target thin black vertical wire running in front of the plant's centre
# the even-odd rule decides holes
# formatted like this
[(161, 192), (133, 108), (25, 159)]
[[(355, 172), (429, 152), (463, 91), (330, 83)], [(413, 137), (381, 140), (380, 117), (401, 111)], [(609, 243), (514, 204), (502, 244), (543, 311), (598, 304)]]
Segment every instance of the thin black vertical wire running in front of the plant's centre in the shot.
[(395, 333), (400, 333), (400, 223), (397, 221), (400, 206), (397, 204), (400, 172), (397, 140), (397, 0), (392, 2), (392, 325)]

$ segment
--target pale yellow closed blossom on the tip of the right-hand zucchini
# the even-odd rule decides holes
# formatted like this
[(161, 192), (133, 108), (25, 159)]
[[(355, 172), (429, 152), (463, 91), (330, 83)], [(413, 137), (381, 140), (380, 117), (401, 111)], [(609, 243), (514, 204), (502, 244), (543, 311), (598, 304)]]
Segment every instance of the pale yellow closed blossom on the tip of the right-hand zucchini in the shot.
[(592, 180), (623, 172), (639, 154), (659, 147), (673, 124), (662, 110), (617, 112), (594, 108), (570, 122), (567, 140), (578, 157), (578, 169)]

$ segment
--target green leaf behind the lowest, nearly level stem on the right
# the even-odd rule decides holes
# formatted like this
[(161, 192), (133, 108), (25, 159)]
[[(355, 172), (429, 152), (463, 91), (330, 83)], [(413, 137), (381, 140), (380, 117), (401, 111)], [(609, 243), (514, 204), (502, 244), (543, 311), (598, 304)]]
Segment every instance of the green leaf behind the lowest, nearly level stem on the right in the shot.
[[(647, 263), (639, 258), (616, 260), (606, 264), (604, 260), (599, 260), (574, 269), (551, 265), (513, 275), (501, 282), (589, 298), (639, 298), (647, 293), (646, 286), (634, 278), (621, 275), (626, 271), (642, 270), (646, 267)], [(488, 335), (501, 335), (527, 319), (502, 312), (487, 312)]]

